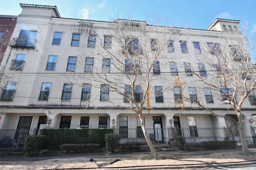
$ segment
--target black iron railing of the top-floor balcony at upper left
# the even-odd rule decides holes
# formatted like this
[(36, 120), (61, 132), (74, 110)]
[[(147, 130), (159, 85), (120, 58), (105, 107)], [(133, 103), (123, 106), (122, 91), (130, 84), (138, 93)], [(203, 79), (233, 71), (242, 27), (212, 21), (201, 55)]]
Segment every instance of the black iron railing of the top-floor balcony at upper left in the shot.
[(11, 47), (27, 47), (27, 48), (35, 48), (36, 47), (36, 39), (30, 38), (13, 38), (9, 45)]

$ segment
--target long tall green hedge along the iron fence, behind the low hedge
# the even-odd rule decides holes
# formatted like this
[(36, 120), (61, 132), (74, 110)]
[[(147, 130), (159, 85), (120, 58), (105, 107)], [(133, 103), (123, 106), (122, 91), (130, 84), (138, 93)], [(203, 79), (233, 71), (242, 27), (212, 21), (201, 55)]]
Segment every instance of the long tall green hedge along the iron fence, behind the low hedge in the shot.
[(59, 149), (63, 144), (96, 143), (105, 147), (105, 134), (113, 129), (42, 129), (44, 149)]

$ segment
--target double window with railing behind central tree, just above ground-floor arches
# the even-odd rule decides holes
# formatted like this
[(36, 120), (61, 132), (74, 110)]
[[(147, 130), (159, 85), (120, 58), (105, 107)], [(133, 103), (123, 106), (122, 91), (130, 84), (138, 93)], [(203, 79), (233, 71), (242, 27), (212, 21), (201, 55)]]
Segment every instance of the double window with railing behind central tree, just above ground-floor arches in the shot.
[[(124, 102), (129, 102), (128, 99), (133, 100), (132, 98), (132, 86), (130, 85), (125, 85), (124, 86), (124, 94), (126, 96), (128, 96), (128, 98), (125, 96), (124, 97)], [(142, 92), (141, 92), (141, 88), (140, 86), (134, 86), (134, 98), (135, 98), (135, 102), (141, 102), (141, 97), (142, 97)]]

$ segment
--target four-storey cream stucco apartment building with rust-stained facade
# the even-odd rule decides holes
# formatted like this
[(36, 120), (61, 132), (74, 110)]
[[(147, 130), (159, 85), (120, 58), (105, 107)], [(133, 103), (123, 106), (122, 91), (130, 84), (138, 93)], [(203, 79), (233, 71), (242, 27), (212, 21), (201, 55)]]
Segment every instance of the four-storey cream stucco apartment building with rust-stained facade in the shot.
[[(212, 79), (211, 74), (218, 73), (218, 64), (212, 70), (203, 61), (224, 49), (230, 37), (241, 39), (240, 21), (216, 19), (208, 29), (188, 29), (158, 27), (145, 21), (61, 18), (56, 6), (20, 7), (22, 12), (1, 64), (6, 77), (0, 95), (0, 129), (139, 128), (140, 118), (130, 109), (129, 98), (134, 94), (138, 105), (144, 101), (146, 128), (230, 127), (240, 141), (234, 122), (224, 118), (237, 119), (228, 100), (203, 87), (192, 74)], [(153, 30), (152, 37), (145, 36), (149, 30)], [(119, 35), (127, 37), (118, 39)], [(168, 45), (157, 46), (159, 40), (166, 41), (164, 37)], [(140, 45), (144, 45), (143, 51)], [(148, 62), (136, 63), (129, 58), (134, 55), (136, 61), (151, 61), (145, 56), (138, 60), (143, 54), (160, 56), (150, 69), (146, 92), (143, 68)], [(134, 72), (138, 75), (135, 85), (129, 82)], [(232, 95), (231, 87), (228, 92)], [(253, 95), (242, 109), (248, 143), (253, 143), (255, 135), (250, 123), (256, 108)], [(220, 116), (199, 107), (198, 100)], [(163, 135), (160, 133), (158, 140), (163, 141)], [(200, 136), (196, 131), (188, 135)], [(129, 138), (128, 133), (121, 136)]]

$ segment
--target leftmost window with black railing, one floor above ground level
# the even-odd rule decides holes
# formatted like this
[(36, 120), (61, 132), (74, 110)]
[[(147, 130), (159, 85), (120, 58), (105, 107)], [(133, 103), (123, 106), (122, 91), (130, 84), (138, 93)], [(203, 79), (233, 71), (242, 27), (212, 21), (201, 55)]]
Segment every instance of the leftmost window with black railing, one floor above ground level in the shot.
[(17, 82), (7, 82), (5, 89), (1, 91), (1, 100), (12, 101)]

